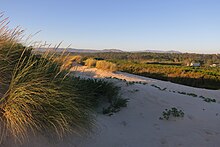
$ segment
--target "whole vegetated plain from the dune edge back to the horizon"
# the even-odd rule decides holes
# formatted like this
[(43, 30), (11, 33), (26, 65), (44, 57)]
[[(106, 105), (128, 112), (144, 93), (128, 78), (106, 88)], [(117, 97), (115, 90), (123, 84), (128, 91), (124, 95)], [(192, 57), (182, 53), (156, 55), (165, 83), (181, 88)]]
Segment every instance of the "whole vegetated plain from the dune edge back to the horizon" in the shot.
[[(87, 58), (99, 58), (117, 64), (119, 71), (145, 77), (171, 81), (183, 85), (220, 89), (219, 54), (170, 54), (170, 53), (72, 53)], [(192, 62), (200, 63), (200, 67), (186, 66)]]

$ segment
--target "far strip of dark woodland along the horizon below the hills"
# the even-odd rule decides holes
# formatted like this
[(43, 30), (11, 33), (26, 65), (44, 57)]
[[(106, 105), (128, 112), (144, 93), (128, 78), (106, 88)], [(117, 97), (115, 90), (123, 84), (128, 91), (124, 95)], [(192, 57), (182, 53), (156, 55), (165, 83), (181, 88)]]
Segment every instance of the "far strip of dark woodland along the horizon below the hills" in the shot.
[(172, 63), (187, 65), (191, 62), (199, 62), (202, 66), (213, 63), (220, 64), (220, 54), (194, 54), (194, 53), (149, 53), (149, 52), (108, 52), (108, 53), (71, 53), (83, 57), (103, 58), (105, 60), (126, 60), (148, 63)]

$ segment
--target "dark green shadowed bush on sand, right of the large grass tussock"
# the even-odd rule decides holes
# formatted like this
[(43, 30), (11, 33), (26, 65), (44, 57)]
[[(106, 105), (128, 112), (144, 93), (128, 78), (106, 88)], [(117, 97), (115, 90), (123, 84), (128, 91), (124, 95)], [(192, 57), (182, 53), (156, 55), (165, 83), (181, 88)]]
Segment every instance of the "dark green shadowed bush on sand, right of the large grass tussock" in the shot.
[[(113, 115), (127, 106), (128, 99), (119, 96), (120, 87), (114, 83), (101, 79), (81, 79), (73, 78), (72, 87), (77, 88), (82, 97), (86, 99), (91, 108), (98, 108), (100, 104), (105, 103), (108, 106), (103, 108), (103, 114)], [(89, 95), (89, 97), (88, 97)]]

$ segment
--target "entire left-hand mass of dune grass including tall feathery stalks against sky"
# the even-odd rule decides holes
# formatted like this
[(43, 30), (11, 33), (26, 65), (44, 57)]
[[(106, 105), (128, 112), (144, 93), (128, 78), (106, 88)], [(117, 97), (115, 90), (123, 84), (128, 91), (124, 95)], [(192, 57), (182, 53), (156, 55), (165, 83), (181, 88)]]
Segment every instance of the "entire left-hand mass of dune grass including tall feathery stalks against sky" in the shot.
[(0, 141), (12, 136), (23, 142), (30, 132), (62, 137), (88, 131), (92, 110), (68, 70), (55, 53), (32, 54), (19, 43), (21, 32), (0, 21)]

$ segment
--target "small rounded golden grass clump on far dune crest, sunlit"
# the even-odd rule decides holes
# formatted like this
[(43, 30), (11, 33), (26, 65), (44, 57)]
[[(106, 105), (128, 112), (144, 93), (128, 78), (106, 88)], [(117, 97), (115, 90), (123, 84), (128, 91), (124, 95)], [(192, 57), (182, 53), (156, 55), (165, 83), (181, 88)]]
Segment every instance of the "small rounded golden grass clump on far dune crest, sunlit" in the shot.
[(108, 61), (97, 61), (96, 62), (96, 68), (102, 69), (102, 70), (107, 70), (111, 72), (117, 71), (117, 66), (114, 63), (108, 62)]

